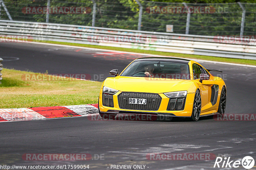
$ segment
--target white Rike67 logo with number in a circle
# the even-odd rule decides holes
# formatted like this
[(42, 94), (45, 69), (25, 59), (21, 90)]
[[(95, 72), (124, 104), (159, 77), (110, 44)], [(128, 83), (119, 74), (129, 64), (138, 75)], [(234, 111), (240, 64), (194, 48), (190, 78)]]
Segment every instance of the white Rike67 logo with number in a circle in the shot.
[(230, 160), (230, 157), (217, 157), (214, 163), (214, 168), (238, 168), (243, 166), (245, 169), (251, 169), (254, 166), (254, 159), (251, 156), (245, 156), (242, 161), (240, 160)]

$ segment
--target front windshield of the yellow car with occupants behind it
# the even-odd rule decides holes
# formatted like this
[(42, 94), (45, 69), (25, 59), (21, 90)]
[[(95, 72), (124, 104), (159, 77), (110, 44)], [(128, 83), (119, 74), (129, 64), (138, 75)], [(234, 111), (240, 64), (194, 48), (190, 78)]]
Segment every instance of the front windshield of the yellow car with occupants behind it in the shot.
[(134, 61), (120, 76), (190, 80), (189, 66), (172, 61)]

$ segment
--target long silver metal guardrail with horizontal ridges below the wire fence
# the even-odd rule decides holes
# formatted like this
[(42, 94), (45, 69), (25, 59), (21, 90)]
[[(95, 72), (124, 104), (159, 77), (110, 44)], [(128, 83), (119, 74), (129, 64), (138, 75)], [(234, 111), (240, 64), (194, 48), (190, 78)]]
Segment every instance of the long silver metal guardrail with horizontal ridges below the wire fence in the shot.
[(0, 35), (28, 36), (28, 39), (36, 41), (48, 40), (256, 60), (255, 41), (239, 38), (229, 38), (227, 41), (227, 37), (223, 36), (199, 36), (10, 20), (0, 20)]

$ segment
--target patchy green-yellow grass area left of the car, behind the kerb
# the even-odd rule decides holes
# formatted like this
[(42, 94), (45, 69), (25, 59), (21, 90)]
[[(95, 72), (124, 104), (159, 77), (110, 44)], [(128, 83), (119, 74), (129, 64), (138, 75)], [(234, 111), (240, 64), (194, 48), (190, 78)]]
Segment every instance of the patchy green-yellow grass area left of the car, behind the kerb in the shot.
[(1, 73), (3, 73), (3, 80), (0, 84), (0, 108), (98, 103), (102, 82), (75, 79), (69, 81), (25, 81), (22, 79), (22, 75), (35, 73), (6, 68)]

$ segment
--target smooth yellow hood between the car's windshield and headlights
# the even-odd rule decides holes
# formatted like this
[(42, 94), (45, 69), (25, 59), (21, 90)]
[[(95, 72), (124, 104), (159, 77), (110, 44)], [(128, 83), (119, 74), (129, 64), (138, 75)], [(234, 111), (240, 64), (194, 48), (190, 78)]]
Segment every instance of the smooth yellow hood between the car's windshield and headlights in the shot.
[(108, 77), (101, 88), (103, 86), (129, 92), (166, 93), (187, 90), (188, 93), (195, 93), (195, 82), (181, 79), (116, 76)]

